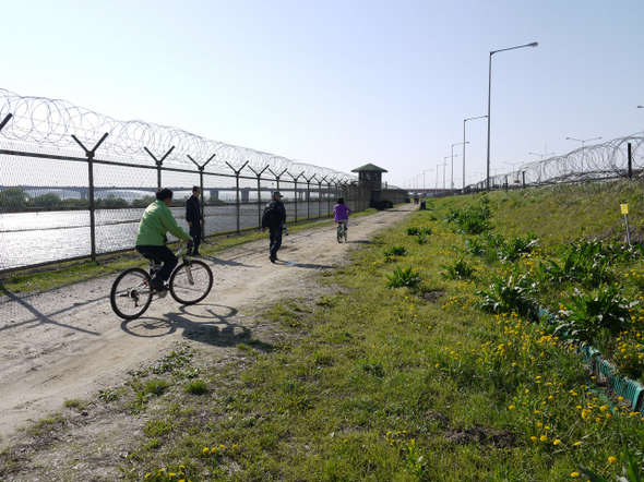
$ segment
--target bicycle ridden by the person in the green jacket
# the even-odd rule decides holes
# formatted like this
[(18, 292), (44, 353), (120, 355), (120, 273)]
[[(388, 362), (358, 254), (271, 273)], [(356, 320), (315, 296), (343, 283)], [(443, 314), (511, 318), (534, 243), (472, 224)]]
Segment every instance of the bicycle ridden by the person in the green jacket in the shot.
[[(189, 258), (181, 244), (175, 254), (179, 263), (168, 281), (170, 294), (181, 304), (199, 303), (213, 288), (213, 272), (204, 262)], [(143, 257), (150, 261), (147, 272), (139, 267), (128, 268), (111, 286), (111, 309), (123, 320), (138, 318), (150, 308), (155, 294), (157, 298), (167, 294), (166, 290), (157, 291), (150, 286), (152, 277), (162, 267), (160, 260), (148, 253), (143, 253)]]

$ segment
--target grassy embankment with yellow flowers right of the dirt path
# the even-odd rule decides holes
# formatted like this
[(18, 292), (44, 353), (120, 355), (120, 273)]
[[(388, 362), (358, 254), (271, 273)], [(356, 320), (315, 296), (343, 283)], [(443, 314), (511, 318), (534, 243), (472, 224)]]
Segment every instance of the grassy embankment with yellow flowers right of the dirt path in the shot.
[[(642, 192), (620, 195), (632, 196), (637, 228)], [(546, 269), (576, 252), (569, 244), (579, 248), (581, 238), (623, 232), (625, 200), (605, 197), (561, 203), (542, 190), (493, 193), (488, 204), (481, 196), (439, 200), (326, 276), (343, 287), (337, 294), (267, 311), (266, 323), (288, 341), (239, 344), (250, 366), (189, 369), (190, 353), (179, 350), (163, 370), (102, 394), (115, 409), (152, 415), (145, 442), (123, 465), (126, 479), (561, 481), (579, 477), (579, 465), (613, 478), (625, 465), (624, 446), (641, 462), (642, 415), (597, 389), (573, 345), (530, 309), (536, 300), (561, 311), (570, 334), (571, 294), (617, 284), (616, 316), (640, 297), (636, 253), (608, 250), (599, 277), (579, 256), (576, 278)], [(457, 232), (467, 209), (485, 206), (488, 229)], [(524, 275), (529, 289), (516, 282)], [(387, 287), (396, 284), (407, 287)], [(611, 318), (581, 333), (615, 357), (623, 357), (617, 347), (628, 338), (635, 360), (627, 367), (635, 371), (641, 308), (627, 314), (622, 325)]]

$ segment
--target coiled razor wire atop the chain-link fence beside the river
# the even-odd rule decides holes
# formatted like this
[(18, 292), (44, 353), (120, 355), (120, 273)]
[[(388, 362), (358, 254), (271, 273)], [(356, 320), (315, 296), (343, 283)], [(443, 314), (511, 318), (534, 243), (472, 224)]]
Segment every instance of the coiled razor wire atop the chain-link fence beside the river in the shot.
[(155, 165), (152, 156), (162, 159), (171, 149), (164, 159), (164, 166), (193, 169), (195, 164), (203, 166), (212, 158), (204, 171), (231, 173), (234, 170), (243, 170), (252, 176), (266, 170), (285, 180), (299, 177), (338, 183), (357, 180), (346, 172), (212, 141), (178, 128), (142, 120), (119, 121), (67, 100), (23, 97), (0, 88), (0, 122), (9, 115), (12, 118), (0, 135), (36, 152), (51, 153), (56, 148), (71, 150), (82, 157), (84, 153), (72, 135), (87, 149), (92, 149), (107, 133), (108, 136), (96, 153), (97, 157), (127, 158), (130, 162)]

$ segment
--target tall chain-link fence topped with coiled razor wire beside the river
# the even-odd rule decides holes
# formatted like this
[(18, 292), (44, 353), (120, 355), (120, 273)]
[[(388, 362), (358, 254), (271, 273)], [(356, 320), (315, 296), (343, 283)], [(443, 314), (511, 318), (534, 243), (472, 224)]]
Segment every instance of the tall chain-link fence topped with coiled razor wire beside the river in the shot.
[[(160, 186), (188, 229), (193, 185), (205, 237), (259, 227), (275, 190), (288, 221), (329, 216), (339, 196), (362, 210), (372, 193), (344, 172), (0, 89), (0, 274), (131, 250)], [(397, 204), (405, 193), (380, 198)]]

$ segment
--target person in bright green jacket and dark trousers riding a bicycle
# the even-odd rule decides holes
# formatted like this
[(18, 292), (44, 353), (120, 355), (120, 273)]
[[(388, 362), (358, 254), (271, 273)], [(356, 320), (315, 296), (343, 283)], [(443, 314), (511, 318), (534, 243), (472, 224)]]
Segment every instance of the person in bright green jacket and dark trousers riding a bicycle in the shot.
[(156, 191), (156, 201), (147, 206), (145, 213), (143, 213), (134, 243), (136, 251), (141, 254), (151, 254), (162, 261), (162, 268), (155, 273), (150, 281), (152, 288), (160, 291), (168, 289), (165, 282), (179, 262), (175, 253), (166, 246), (168, 242), (166, 234), (170, 232), (178, 239), (192, 242), (190, 234), (177, 225), (177, 220), (170, 210), (171, 202), (172, 191), (167, 188), (159, 188)]

